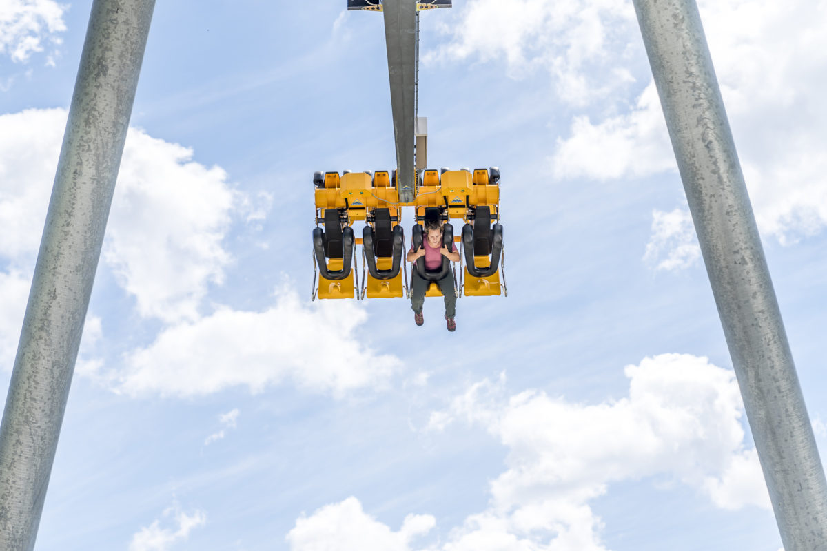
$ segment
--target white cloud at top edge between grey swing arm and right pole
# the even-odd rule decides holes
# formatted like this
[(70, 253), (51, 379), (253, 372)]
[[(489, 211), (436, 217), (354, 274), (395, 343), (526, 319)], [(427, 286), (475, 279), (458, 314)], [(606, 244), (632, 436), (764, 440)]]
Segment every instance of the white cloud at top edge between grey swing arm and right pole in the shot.
[(629, 55), (628, 36), (637, 25), (629, 2), (476, 0), (456, 16), (434, 21), (452, 40), (426, 52), (424, 63), (504, 59), (515, 78), (545, 70), (558, 97), (572, 105), (608, 97), (633, 80), (629, 70), (615, 62), (616, 55)]

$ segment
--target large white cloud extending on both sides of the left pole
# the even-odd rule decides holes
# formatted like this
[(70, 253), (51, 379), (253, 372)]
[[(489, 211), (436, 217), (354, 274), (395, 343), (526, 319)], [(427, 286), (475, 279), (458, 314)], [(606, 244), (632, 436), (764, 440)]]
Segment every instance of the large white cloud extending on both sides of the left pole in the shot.
[[(0, 258), (31, 270), (65, 131), (64, 109), (0, 116)], [(193, 151), (130, 129), (112, 199), (103, 260), (142, 316), (194, 320), (230, 255), (222, 239), (232, 216), (260, 220), (227, 174), (193, 160)]]

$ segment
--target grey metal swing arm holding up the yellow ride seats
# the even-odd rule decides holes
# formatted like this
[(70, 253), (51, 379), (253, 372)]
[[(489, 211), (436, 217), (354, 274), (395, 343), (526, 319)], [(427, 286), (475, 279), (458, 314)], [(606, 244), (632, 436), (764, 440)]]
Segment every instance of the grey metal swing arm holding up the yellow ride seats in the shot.
[(414, 202), (414, 133), (416, 102), (416, 0), (384, 0), (390, 107), (394, 116), (399, 201)]

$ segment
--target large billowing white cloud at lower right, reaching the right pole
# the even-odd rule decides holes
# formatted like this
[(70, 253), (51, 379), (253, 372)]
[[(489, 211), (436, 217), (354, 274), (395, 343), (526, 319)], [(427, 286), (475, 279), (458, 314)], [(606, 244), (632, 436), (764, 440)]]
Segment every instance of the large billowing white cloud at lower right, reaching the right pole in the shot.
[[(604, 523), (590, 501), (613, 483), (645, 478), (689, 485), (728, 510), (770, 508), (758, 457), (744, 444), (732, 371), (689, 354), (662, 354), (624, 372), (629, 396), (617, 401), (572, 403), (533, 390), (508, 396), (501, 375), (475, 383), (432, 416), (428, 430), (480, 425), (508, 449), (505, 471), (490, 482), (489, 507), (433, 549), (605, 551)], [(311, 520), (328, 542), (343, 530), (331, 515)]]

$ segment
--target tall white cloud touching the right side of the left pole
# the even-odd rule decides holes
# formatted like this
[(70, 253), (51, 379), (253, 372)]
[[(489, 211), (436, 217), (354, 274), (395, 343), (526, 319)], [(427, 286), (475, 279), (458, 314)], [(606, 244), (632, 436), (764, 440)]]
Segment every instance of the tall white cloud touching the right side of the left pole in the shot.
[(193, 150), (130, 129), (103, 258), (143, 316), (194, 320), (209, 283), (222, 283), (222, 239), (240, 194)]

